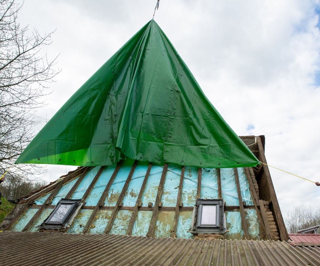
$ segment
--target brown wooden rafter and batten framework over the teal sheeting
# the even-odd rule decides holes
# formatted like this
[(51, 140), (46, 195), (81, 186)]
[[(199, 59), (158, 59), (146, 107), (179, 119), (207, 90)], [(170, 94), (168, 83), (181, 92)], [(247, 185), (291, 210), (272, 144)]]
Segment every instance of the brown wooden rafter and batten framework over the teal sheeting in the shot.
[[(262, 141), (263, 140), (263, 141)], [(259, 159), (263, 160), (266, 162), (265, 160), (265, 156), (264, 156), (264, 148), (263, 148), (263, 142), (264, 142), (264, 136), (258, 136), (258, 137), (246, 137), (246, 142), (248, 143), (249, 141), (249, 145), (251, 147), (252, 150), (254, 151), (258, 151), (259, 153), (257, 153), (257, 155), (259, 156)], [(246, 144), (248, 145), (248, 144)], [(262, 152), (261, 152), (262, 151)], [(132, 174), (135, 170), (135, 165), (138, 163), (138, 161), (134, 161), (134, 164), (132, 165), (132, 169), (129, 173), (129, 176), (126, 180), (126, 185), (123, 187), (122, 192), (120, 197), (118, 198), (117, 204), (114, 207), (110, 207), (110, 206), (104, 206), (104, 200), (106, 198), (106, 196), (108, 195), (108, 190), (110, 189), (112, 182), (114, 181), (117, 172), (120, 170), (121, 167), (121, 163), (122, 161), (120, 161), (118, 163), (118, 165), (116, 166), (116, 169), (114, 170), (114, 173), (112, 174), (112, 177), (110, 178), (105, 191), (102, 193), (100, 200), (98, 201), (96, 206), (85, 206), (85, 199), (87, 198), (87, 196), (90, 194), (92, 188), (94, 187), (95, 183), (97, 182), (100, 174), (102, 173), (104, 167), (100, 167), (100, 170), (98, 171), (97, 175), (94, 177), (94, 179), (92, 180), (90, 186), (88, 187), (88, 189), (86, 190), (84, 197), (83, 197), (83, 206), (81, 207), (81, 209), (91, 209), (93, 210), (91, 213), (91, 217), (89, 218), (89, 220), (87, 221), (86, 225), (84, 226), (84, 230), (82, 233), (88, 233), (92, 222), (94, 220), (94, 217), (96, 216), (96, 214), (99, 212), (99, 210), (112, 210), (112, 216), (108, 222), (108, 225), (106, 226), (105, 229), (105, 233), (109, 233), (112, 227), (112, 224), (115, 220), (115, 217), (117, 215), (117, 212), (119, 210), (119, 208), (121, 208), (121, 210), (129, 210), (132, 211), (132, 216), (130, 218), (129, 221), (129, 226), (127, 229), (127, 234), (131, 235), (132, 234), (132, 229), (134, 226), (134, 223), (136, 221), (136, 216), (137, 216), (137, 212), (138, 210), (140, 211), (152, 211), (152, 219), (149, 225), (149, 230), (148, 230), (148, 236), (152, 237), (153, 236), (153, 232), (155, 229), (155, 223), (156, 223), (156, 219), (157, 219), (157, 214), (159, 212), (159, 210), (163, 210), (163, 211), (174, 211), (174, 220), (173, 220), (173, 224), (172, 224), (172, 230), (171, 230), (171, 236), (172, 237), (176, 237), (176, 230), (177, 230), (177, 221), (179, 219), (179, 211), (190, 211), (192, 210), (192, 207), (183, 207), (183, 203), (181, 202), (181, 191), (182, 191), (182, 187), (183, 187), (183, 177), (184, 177), (184, 169), (185, 167), (181, 168), (181, 174), (180, 174), (180, 184), (179, 184), (179, 191), (178, 191), (178, 197), (177, 197), (177, 201), (176, 201), (176, 206), (175, 207), (162, 207), (161, 204), (161, 196), (162, 196), (162, 192), (163, 192), (163, 187), (164, 187), (164, 181), (165, 181), (165, 176), (168, 170), (168, 165), (165, 164), (164, 165), (164, 169), (161, 175), (161, 180), (160, 180), (160, 184), (158, 187), (158, 193), (157, 193), (157, 197), (156, 197), (156, 202), (155, 202), (155, 206), (152, 207), (142, 207), (142, 203), (141, 203), (141, 197), (143, 194), (143, 191), (145, 189), (147, 180), (148, 180), (148, 176), (152, 167), (152, 164), (149, 163), (148, 166), (148, 170), (146, 172), (145, 178), (143, 180), (143, 183), (141, 185), (141, 189), (136, 201), (136, 204), (134, 207), (128, 207), (128, 206), (122, 206), (122, 199), (124, 194), (127, 192), (127, 188), (128, 188), (128, 184), (132, 178)], [(252, 183), (252, 176), (249, 171), (249, 168), (244, 168), (245, 171), (245, 175), (247, 176), (248, 179), (248, 185), (250, 188), (250, 192), (252, 195), (252, 199), (253, 199), (253, 203), (254, 205), (252, 206), (244, 206), (242, 199), (241, 199), (241, 191), (240, 191), (240, 184), (239, 184), (239, 177), (237, 174), (237, 169), (235, 169), (235, 177), (236, 177), (236, 186), (237, 186), (237, 193), (238, 193), (238, 198), (239, 198), (239, 206), (226, 206), (225, 210), (226, 211), (233, 211), (233, 210), (238, 210), (241, 213), (241, 219), (242, 219), (242, 226), (243, 226), (243, 230), (244, 230), (244, 235), (246, 237), (246, 239), (250, 239), (249, 234), (248, 234), (248, 228), (247, 228), (247, 223), (246, 223), (246, 217), (244, 215), (244, 209), (247, 208), (254, 208), (256, 209), (257, 215), (258, 215), (258, 220), (260, 221), (260, 225), (263, 229), (263, 233), (266, 236), (266, 239), (273, 239), (272, 238), (272, 232), (270, 231), (270, 227), (269, 227), (269, 223), (268, 223), (268, 218), (266, 217), (266, 209), (265, 209), (265, 205), (267, 202), (267, 208), (270, 208), (270, 210), (273, 213), (274, 216), (274, 220), (276, 223), (276, 227), (277, 230), (279, 232), (280, 235), (280, 239), (281, 240), (286, 240), (287, 238), (285, 236), (287, 236), (286, 230), (284, 231), (285, 227), (284, 227), (284, 223), (283, 223), (283, 219), (282, 219), (282, 215), (279, 211), (276, 211), (276, 203), (277, 203), (277, 199), (276, 199), (276, 195), (274, 192), (274, 188), (273, 186), (270, 186), (270, 184), (272, 185), (272, 180), (270, 177), (270, 173), (269, 174), (269, 179), (267, 178), (267, 174), (266, 174), (266, 170), (265, 168), (268, 170), (268, 166), (261, 166), (260, 170), (258, 170), (255, 174), (256, 174), (256, 179), (259, 185), (259, 192), (260, 192), (260, 198), (259, 195), (257, 196), (256, 193), (256, 189), (254, 186), (257, 185), (253, 185)], [(86, 173), (88, 173), (88, 171), (92, 169), (92, 167), (82, 167), (82, 168), (78, 168), (75, 171), (72, 171), (70, 173), (68, 173), (68, 175), (65, 175), (63, 177), (61, 177), (60, 179), (58, 179), (56, 182), (54, 182), (53, 184), (51, 184), (50, 186), (46, 186), (43, 189), (41, 189), (40, 191), (36, 192), (34, 195), (29, 195), (29, 197), (27, 199), (23, 199), (21, 202), (24, 204), (23, 208), (20, 210), (20, 212), (15, 215), (15, 217), (12, 219), (10, 225), (8, 227), (5, 228), (5, 230), (9, 230), (12, 225), (19, 220), (19, 218), (21, 217), (21, 215), (28, 209), (28, 208), (38, 208), (38, 211), (36, 212), (36, 214), (32, 217), (32, 219), (28, 222), (28, 224), (23, 228), (23, 231), (29, 231), (31, 229), (31, 227), (33, 226), (33, 224), (36, 222), (37, 218), (40, 217), (41, 213), (43, 212), (44, 209), (46, 208), (54, 208), (53, 205), (50, 205), (52, 202), (52, 199), (54, 198), (54, 196), (58, 193), (58, 191), (60, 190), (60, 188), (62, 187), (63, 184), (66, 184), (67, 182), (70, 182), (71, 180), (78, 178), (77, 182), (74, 184), (74, 186), (71, 188), (71, 190), (68, 193), (68, 196), (71, 197), (72, 194), (76, 191), (76, 188), (78, 187), (78, 185), (81, 183), (81, 180), (83, 180), (84, 176), (86, 175)], [(220, 169), (217, 169), (217, 179), (218, 179), (218, 196), (219, 198), (222, 197), (222, 191), (221, 191), (221, 177), (220, 177)], [(202, 168), (198, 169), (198, 175), (197, 175), (197, 198), (201, 197), (201, 176), (202, 176)], [(254, 182), (256, 182), (254, 180)], [(265, 189), (261, 189), (261, 187), (264, 187), (264, 185), (267, 184), (267, 188)], [(51, 190), (48, 190), (48, 188), (50, 188)], [(273, 195), (271, 195), (271, 192), (273, 191)], [(35, 200), (37, 197), (41, 196), (41, 195), (45, 195), (47, 193), (50, 193), (51, 195), (45, 200), (44, 204), (42, 205), (33, 205), (33, 200)], [(239, 196), (240, 193), (240, 196)], [(259, 193), (258, 193), (259, 194)], [(280, 214), (280, 216), (279, 216)], [(268, 214), (269, 215), (269, 214)], [(278, 216), (277, 216), (278, 215)], [(283, 224), (281, 224), (281, 222)], [(282, 232), (281, 232), (282, 230)], [(67, 230), (65, 230), (66, 232)]]

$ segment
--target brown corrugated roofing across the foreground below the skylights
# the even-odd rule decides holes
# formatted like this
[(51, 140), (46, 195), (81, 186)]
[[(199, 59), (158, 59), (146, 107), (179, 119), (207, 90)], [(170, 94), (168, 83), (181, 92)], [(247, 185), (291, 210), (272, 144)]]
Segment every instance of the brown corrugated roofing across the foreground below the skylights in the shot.
[(0, 233), (0, 265), (320, 265), (317, 246), (279, 241)]

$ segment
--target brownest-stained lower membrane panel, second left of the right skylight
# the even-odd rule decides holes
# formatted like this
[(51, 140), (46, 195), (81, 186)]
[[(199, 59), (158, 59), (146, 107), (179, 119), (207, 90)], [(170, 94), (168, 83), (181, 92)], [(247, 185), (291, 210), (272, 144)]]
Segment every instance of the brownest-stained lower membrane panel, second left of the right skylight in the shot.
[(175, 212), (158, 212), (153, 237), (170, 237)]

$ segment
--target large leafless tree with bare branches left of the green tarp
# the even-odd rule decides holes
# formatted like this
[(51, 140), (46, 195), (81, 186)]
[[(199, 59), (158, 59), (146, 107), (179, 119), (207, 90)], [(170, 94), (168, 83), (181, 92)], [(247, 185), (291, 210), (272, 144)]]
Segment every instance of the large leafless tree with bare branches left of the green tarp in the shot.
[(0, 176), (10, 168), (5, 182), (28, 183), (44, 169), (36, 165), (15, 165), (34, 132), (35, 110), (50, 93), (48, 83), (59, 72), (56, 58), (48, 60), (44, 46), (51, 44), (53, 32), (40, 35), (21, 26), (18, 13), (22, 4), (0, 0)]

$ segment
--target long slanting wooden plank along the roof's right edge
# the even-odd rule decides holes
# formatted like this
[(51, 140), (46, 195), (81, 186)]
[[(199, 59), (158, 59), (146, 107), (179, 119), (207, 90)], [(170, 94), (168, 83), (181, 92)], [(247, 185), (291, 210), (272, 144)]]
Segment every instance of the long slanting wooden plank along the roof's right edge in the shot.
[[(260, 136), (257, 137), (257, 142), (258, 142), (260, 161), (267, 164), (267, 160), (266, 160), (266, 156), (264, 154), (264, 149), (263, 149), (263, 145), (262, 145), (262, 141), (261, 141)], [(280, 233), (280, 239), (282, 241), (288, 241), (288, 239), (289, 239), (288, 232), (287, 232), (287, 229), (285, 228), (285, 225), (284, 225), (284, 220), (283, 220), (280, 206), (278, 203), (278, 199), (276, 196), (276, 191), (275, 191), (275, 188), (273, 187), (269, 168), (265, 164), (262, 164), (262, 167), (263, 167), (263, 171), (264, 171), (266, 178), (267, 178), (267, 181), (268, 181), (270, 196), (271, 196), (272, 205), (273, 205), (274, 214), (275, 214), (274, 216), (276, 216), (275, 222), (276, 222), (277, 228)], [(267, 199), (265, 199), (265, 200), (267, 200)]]

